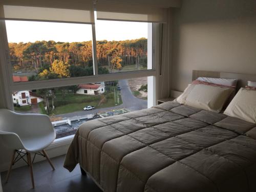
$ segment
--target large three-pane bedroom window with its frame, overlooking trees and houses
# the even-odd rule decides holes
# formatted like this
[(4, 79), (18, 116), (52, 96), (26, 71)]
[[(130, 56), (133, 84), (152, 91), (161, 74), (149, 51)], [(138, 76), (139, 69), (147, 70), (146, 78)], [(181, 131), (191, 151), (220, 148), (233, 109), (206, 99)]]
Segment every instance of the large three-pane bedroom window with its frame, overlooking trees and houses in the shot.
[(124, 17), (115, 20), (105, 6), (94, 12), (89, 4), (4, 6), (0, 20), (8, 108), (49, 115), (58, 138), (84, 121), (145, 109), (156, 99), (157, 23), (164, 22), (151, 14), (156, 8), (140, 17), (137, 6), (120, 6)]

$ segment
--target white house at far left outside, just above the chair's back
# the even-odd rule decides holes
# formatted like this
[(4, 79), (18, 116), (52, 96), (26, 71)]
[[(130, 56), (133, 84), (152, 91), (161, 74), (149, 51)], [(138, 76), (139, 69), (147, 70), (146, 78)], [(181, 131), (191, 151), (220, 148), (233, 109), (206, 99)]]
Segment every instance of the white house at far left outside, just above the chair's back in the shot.
[(13, 103), (20, 105), (36, 104), (44, 99), (33, 95), (32, 91), (17, 91), (12, 94)]

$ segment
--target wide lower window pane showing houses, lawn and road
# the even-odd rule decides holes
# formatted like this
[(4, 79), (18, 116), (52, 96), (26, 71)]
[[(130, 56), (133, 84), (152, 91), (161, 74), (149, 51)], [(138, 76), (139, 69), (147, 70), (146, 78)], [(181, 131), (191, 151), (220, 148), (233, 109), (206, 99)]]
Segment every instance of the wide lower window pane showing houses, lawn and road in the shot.
[(73, 135), (82, 122), (146, 109), (147, 77), (24, 90), (12, 98), (18, 113), (49, 115), (60, 138)]

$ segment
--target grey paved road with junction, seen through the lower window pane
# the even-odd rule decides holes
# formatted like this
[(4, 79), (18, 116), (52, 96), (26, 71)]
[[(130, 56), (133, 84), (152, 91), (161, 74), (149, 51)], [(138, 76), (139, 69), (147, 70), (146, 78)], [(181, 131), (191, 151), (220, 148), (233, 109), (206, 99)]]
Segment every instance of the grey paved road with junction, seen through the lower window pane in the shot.
[[(125, 108), (129, 111), (137, 111), (137, 110), (142, 110), (147, 108), (147, 100), (139, 99), (135, 97), (128, 86), (127, 80), (119, 80), (118, 84), (121, 88), (121, 97), (123, 103), (117, 106), (112, 106), (110, 108), (101, 108), (101, 109), (95, 109), (91, 111), (78, 111), (78, 112), (73, 112), (73, 113), (67, 113), (67, 114), (61, 114), (61, 115), (56, 115), (56, 117), (62, 117), (63, 119), (65, 118), (71, 118), (71, 117), (78, 117), (78, 116), (84, 116), (84, 115), (89, 115), (89, 114), (95, 114), (95, 113), (100, 113), (104, 111), (111, 111), (114, 109), (120, 109), (120, 108)], [(81, 109), (84, 108), (84, 106), (81, 106)]]

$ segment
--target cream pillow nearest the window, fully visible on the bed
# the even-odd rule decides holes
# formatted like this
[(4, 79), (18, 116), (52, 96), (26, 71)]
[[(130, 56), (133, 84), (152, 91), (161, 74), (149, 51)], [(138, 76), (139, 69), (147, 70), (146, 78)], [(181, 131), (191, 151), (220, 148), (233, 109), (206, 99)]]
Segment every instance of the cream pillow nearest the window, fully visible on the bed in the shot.
[(175, 101), (219, 113), (233, 90), (232, 87), (196, 80)]

